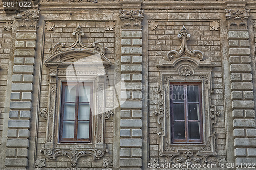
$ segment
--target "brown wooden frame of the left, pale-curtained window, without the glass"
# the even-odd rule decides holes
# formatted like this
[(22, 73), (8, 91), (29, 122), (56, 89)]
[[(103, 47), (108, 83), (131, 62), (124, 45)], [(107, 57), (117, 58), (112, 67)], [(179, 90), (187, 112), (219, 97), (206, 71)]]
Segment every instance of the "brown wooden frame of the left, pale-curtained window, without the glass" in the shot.
[[(65, 104), (65, 88), (67, 86), (67, 82), (62, 82), (61, 89), (61, 111), (60, 111), (60, 131), (59, 138), (60, 142), (65, 143), (75, 143), (75, 142), (83, 142), (83, 143), (91, 143), (92, 141), (92, 109), (93, 108), (93, 83), (92, 82), (69, 82), (69, 85), (76, 85), (76, 101), (75, 101), (75, 132), (74, 138), (62, 138), (63, 135), (63, 118), (64, 118), (64, 104)], [(78, 110), (79, 110), (79, 86), (90, 86), (91, 94), (90, 94), (90, 119), (89, 119), (89, 138), (87, 139), (77, 139), (77, 131), (78, 131)], [(84, 103), (84, 102), (83, 102)]]

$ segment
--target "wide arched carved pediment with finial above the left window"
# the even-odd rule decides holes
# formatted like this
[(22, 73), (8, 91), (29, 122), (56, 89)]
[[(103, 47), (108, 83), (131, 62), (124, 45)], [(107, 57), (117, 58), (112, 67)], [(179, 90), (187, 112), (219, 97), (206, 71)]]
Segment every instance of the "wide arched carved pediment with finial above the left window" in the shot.
[(110, 66), (112, 63), (105, 55), (105, 48), (95, 42), (91, 46), (86, 46), (81, 42), (81, 36), (84, 35), (80, 26), (73, 32), (76, 35), (76, 41), (68, 46), (65, 43), (58, 43), (52, 49), (52, 56), (46, 61), (45, 65), (50, 66), (67, 66), (70, 64), (77, 65), (104, 65)]

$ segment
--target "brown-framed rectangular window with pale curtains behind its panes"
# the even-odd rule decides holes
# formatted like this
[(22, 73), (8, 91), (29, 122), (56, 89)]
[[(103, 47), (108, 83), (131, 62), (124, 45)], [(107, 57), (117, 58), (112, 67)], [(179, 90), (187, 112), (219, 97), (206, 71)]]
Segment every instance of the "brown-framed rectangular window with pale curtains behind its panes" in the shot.
[(92, 83), (63, 82), (60, 142), (91, 142)]

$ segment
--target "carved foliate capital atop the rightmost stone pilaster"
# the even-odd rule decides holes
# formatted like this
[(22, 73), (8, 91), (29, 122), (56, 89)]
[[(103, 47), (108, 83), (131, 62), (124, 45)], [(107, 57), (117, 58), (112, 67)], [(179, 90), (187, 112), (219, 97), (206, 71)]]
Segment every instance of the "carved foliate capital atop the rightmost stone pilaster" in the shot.
[(229, 21), (229, 29), (246, 29), (247, 20), (250, 17), (250, 10), (226, 9), (226, 19)]

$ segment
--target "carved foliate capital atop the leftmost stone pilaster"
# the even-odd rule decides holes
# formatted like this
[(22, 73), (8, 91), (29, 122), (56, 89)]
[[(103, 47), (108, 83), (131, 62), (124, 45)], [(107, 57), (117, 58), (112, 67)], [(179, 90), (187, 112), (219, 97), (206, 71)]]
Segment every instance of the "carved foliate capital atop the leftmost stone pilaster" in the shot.
[(26, 10), (18, 12), (14, 16), (19, 23), (19, 30), (36, 30), (37, 23), (39, 22), (39, 10)]

